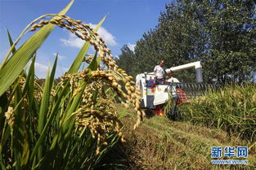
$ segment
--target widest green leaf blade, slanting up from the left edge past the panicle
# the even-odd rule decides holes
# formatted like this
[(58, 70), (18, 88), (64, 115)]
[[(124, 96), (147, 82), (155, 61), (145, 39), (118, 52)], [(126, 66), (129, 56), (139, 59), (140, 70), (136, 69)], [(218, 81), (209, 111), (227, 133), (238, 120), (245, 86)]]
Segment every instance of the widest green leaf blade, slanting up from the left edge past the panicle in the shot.
[[(72, 0), (59, 14), (65, 14), (65, 12), (70, 9), (73, 2), (74, 0)], [(22, 72), (25, 65), (33, 57), (35, 51), (38, 50), (38, 48), (47, 39), (54, 27), (54, 24), (47, 24), (38, 30), (37, 33), (34, 33), (29, 40), (25, 41), (25, 43), (20, 46), (18, 50), (16, 50), (16, 53), (13, 54), (7, 63), (2, 67), (0, 71), (0, 96), (16, 80), (16, 77), (20, 75), (20, 72)]]

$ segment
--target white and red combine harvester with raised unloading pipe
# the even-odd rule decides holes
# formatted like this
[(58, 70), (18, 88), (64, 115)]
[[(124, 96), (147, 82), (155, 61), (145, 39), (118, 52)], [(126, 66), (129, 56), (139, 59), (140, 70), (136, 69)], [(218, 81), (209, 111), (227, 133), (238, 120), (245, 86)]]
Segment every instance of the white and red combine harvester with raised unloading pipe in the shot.
[[(173, 77), (172, 72), (181, 71), (188, 68), (195, 68), (197, 83), (182, 83)], [(172, 101), (173, 106), (166, 112), (172, 120), (178, 116), (177, 105), (190, 102), (191, 98), (196, 98), (207, 89), (216, 89), (218, 85), (203, 83), (202, 66), (199, 62), (187, 63), (181, 66), (168, 68), (166, 73), (170, 73), (170, 78), (164, 85), (155, 84), (154, 72), (144, 72), (136, 76), (136, 86), (141, 89), (141, 108), (154, 110), (155, 114), (164, 115), (164, 105)]]

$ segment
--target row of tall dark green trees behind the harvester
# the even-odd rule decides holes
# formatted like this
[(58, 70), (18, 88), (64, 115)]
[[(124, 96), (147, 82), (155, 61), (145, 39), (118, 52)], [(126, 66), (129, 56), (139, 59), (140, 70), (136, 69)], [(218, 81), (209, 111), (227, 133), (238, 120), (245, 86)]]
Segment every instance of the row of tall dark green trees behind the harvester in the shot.
[[(152, 72), (160, 59), (166, 66), (201, 61), (204, 81), (255, 81), (256, 14), (254, 0), (173, 0), (160, 11), (159, 24), (144, 33), (135, 50), (124, 46), (116, 59), (136, 76)], [(194, 81), (193, 70), (177, 72)]]

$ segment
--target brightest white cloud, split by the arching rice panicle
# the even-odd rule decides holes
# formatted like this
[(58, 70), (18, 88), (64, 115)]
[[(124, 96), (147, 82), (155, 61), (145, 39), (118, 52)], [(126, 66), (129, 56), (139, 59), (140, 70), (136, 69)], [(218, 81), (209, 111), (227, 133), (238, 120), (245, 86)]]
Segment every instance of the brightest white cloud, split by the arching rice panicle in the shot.
[[(96, 24), (89, 24), (92, 28), (96, 27)], [(102, 37), (102, 39), (106, 42), (106, 46), (116, 46), (117, 42), (115, 41), (115, 37), (106, 30), (106, 28), (100, 27), (97, 31), (99, 35)], [(61, 42), (65, 46), (72, 46), (72, 47), (78, 47), (81, 48), (84, 44), (84, 41), (81, 40), (79, 37), (76, 37), (73, 33), (69, 34), (68, 39), (61, 38)]]

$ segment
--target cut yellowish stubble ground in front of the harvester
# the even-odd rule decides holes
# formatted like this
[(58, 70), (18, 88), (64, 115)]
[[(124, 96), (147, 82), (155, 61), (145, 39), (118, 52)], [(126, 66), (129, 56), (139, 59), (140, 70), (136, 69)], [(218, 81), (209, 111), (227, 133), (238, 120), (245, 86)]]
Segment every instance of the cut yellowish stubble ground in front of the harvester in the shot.
[[(124, 107), (119, 107), (123, 111)], [(126, 110), (126, 109), (125, 109)], [(122, 119), (124, 144), (128, 168), (124, 169), (254, 169), (256, 150), (249, 150), (249, 165), (212, 165), (212, 146), (249, 146), (249, 142), (238, 136), (230, 137), (222, 129), (210, 129), (204, 125), (168, 120), (165, 116), (146, 119), (135, 131), (130, 124), (135, 113)]]

